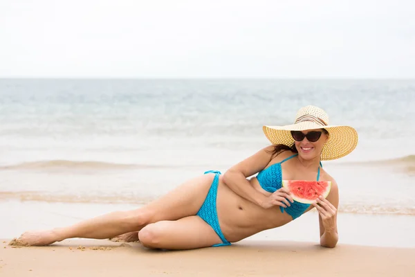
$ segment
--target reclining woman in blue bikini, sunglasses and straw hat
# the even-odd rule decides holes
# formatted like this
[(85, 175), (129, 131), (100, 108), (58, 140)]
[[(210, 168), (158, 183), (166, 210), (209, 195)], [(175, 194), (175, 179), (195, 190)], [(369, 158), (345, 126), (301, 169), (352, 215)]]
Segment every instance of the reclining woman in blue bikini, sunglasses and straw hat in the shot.
[[(26, 232), (19, 240), (46, 245), (67, 238), (116, 237), (139, 240), (155, 249), (196, 249), (229, 245), (283, 226), (316, 208), (320, 244), (335, 247), (338, 185), (320, 161), (353, 151), (358, 142), (356, 130), (329, 125), (327, 114), (314, 106), (299, 109), (293, 125), (263, 129), (273, 145), (232, 166), (224, 175), (208, 171), (142, 208), (109, 213), (64, 228)], [(282, 188), (283, 176), (332, 181), (331, 192), (311, 205), (294, 202), (291, 193)]]

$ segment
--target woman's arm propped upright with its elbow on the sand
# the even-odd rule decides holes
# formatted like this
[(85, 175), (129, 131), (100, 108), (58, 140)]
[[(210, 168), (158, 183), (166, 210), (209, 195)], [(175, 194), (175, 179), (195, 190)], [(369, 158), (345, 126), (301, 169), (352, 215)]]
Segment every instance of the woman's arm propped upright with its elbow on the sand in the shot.
[(318, 211), (320, 225), (320, 245), (333, 248), (339, 240), (337, 228), (337, 209), (339, 205), (339, 190), (335, 180), (331, 181), (331, 190), (326, 199), (321, 198), (313, 204)]

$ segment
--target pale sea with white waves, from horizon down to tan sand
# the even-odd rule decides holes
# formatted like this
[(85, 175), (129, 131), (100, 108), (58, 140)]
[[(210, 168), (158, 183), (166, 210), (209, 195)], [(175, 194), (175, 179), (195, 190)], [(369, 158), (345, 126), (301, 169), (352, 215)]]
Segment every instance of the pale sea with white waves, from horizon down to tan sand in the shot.
[[(0, 79), (0, 238), (143, 206), (269, 145), (305, 105), (359, 134), (323, 161), (343, 244), (415, 247), (415, 80)], [(318, 243), (311, 211), (246, 240)]]

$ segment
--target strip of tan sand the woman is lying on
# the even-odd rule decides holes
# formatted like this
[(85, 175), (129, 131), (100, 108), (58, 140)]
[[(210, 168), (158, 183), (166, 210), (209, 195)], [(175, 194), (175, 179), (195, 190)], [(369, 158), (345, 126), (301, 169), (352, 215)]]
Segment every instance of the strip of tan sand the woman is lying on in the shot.
[(0, 276), (415, 276), (415, 249), (243, 241), (160, 251), (138, 242), (64, 240), (48, 247), (1, 240)]

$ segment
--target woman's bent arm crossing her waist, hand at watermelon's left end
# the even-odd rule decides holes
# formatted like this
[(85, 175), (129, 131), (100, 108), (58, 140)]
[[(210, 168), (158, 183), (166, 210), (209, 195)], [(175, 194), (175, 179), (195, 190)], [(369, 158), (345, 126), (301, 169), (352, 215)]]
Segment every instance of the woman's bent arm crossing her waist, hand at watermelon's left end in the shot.
[(267, 197), (256, 190), (246, 179), (263, 170), (268, 165), (271, 161), (273, 150), (274, 147), (272, 145), (259, 150), (247, 159), (232, 166), (223, 175), (223, 181), (234, 193), (263, 208), (270, 208), (275, 205), (286, 207), (284, 203), (288, 203), (288, 201), (285, 198), (291, 199), (292, 202), (292, 198), (288, 195), (288, 191), (285, 188), (277, 190), (273, 195)]

